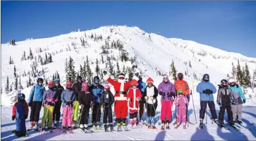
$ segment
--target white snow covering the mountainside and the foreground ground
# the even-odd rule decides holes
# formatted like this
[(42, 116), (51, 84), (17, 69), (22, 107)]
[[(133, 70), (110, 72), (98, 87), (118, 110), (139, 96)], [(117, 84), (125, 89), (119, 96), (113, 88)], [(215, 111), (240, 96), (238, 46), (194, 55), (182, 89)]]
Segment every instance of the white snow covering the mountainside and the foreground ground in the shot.
[[(84, 36), (85, 33), (87, 37)], [(96, 33), (97, 36), (102, 34), (103, 40), (94, 41), (93, 39), (89, 39), (88, 36), (92, 33)], [(199, 94), (196, 93), (196, 85), (200, 82), (203, 74), (209, 74), (210, 82), (217, 86), (220, 80), (226, 78), (227, 74), (231, 75), (231, 63), (233, 62), (234, 66), (236, 66), (238, 59), (241, 66), (244, 66), (245, 63), (248, 64), (251, 74), (252, 70), (256, 69), (256, 58), (249, 58), (239, 53), (223, 51), (218, 48), (198, 44), (190, 40), (174, 38), (168, 39), (158, 34), (147, 33), (138, 27), (103, 26), (90, 31), (71, 32), (69, 34), (63, 34), (56, 37), (16, 42), (17, 45), (15, 46), (1, 44), (1, 140), (17, 139), (17, 137), (10, 135), (11, 131), (15, 129), (15, 122), (11, 120), (12, 112), (10, 106), (14, 104), (12, 100), (17, 94), (17, 91), (5, 93), (4, 86), (6, 85), (7, 76), (9, 76), (10, 84), (14, 82), (14, 65), (17, 68), (18, 75), (22, 75), (24, 70), (26, 73), (28, 70), (31, 70), (30, 65), (33, 61), (21, 61), (23, 51), (26, 51), (26, 56), (28, 56), (31, 48), (34, 55), (41, 55), (44, 59), (46, 53), (53, 53), (63, 49), (63, 52), (55, 53), (55, 55), (52, 56), (54, 61), (53, 63), (49, 63), (44, 66), (41, 66), (40, 64), (38, 65), (38, 70), (41, 70), (42, 67), (47, 70), (45, 73), (46, 78), (51, 78), (52, 74), (58, 70), (61, 83), (63, 84), (65, 83), (65, 59), (71, 56), (74, 59), (74, 66), (77, 71), (79, 70), (79, 65), (84, 64), (84, 61), (86, 61), (86, 55), (88, 55), (89, 61), (94, 62), (94, 64), (90, 65), (90, 68), (94, 71), (96, 59), (98, 58), (100, 60), (101, 58), (100, 47), (105, 45), (105, 39), (107, 39), (108, 36), (110, 36), (110, 44), (112, 40), (119, 39), (120, 42), (124, 44), (124, 49), (129, 53), (129, 57), (137, 57), (135, 64), (138, 65), (138, 70), (142, 70), (143, 75), (145, 75), (143, 78), (144, 81), (146, 81), (148, 76), (150, 76), (153, 78), (154, 84), (158, 86), (162, 81), (162, 77), (156, 75), (156, 67), (161, 71), (161, 73), (169, 73), (169, 67), (172, 63), (172, 59), (174, 60), (174, 64), (178, 72), (185, 74), (185, 70), (187, 70), (189, 76), (185, 76), (185, 80), (188, 82), (188, 85), (190, 85), (191, 90), (193, 90), (194, 86), (194, 106), (198, 123), (200, 106)], [(87, 41), (88, 44), (86, 45), (86, 48), (81, 46), (80, 37), (84, 37), (84, 40)], [(72, 47), (72, 42), (77, 44), (76, 49)], [(68, 45), (70, 46), (71, 51), (66, 51)], [(36, 48), (39, 47), (42, 49), (49, 48), (49, 50), (36, 53)], [(119, 55), (118, 50), (110, 50), (110, 52), (111, 53), (108, 56)], [(204, 55), (202, 56), (202, 54)], [(10, 56), (12, 56), (14, 64), (9, 64)], [(104, 56), (104, 59), (106, 60), (106, 56)], [(199, 59), (201, 61), (199, 61)], [(189, 61), (191, 61), (192, 68), (188, 66)], [(130, 61), (124, 63), (118, 59), (118, 62), (121, 70), (124, 65), (126, 67), (132, 66)], [(113, 65), (114, 69), (116, 69), (116, 61), (113, 61)], [(105, 64), (100, 64), (100, 69), (104, 69), (104, 67)], [(196, 74), (198, 79), (194, 79), (193, 74)], [(32, 86), (26, 88), (26, 80), (28, 80), (28, 77), (21, 78), (22, 86), (24, 88), (22, 93), (25, 94), (26, 100), (28, 100)], [(192, 83), (193, 81), (194, 84)], [(174, 81), (172, 80), (171, 82)], [(113, 87), (111, 87), (111, 91), (114, 92)], [(31, 135), (30, 137), (18, 140), (255, 140), (256, 129), (255, 126), (251, 125), (251, 123), (255, 121), (256, 118), (254, 103), (256, 102), (256, 90), (252, 92), (252, 90), (247, 89), (246, 91), (247, 103), (244, 104), (242, 120), (244, 123), (249, 125), (252, 129), (251, 131), (247, 129), (242, 129), (241, 132), (234, 131), (233, 129), (231, 129), (231, 132), (223, 129), (220, 130), (217, 128), (217, 125), (208, 121), (207, 128), (204, 127), (204, 129), (197, 129), (198, 124), (194, 126), (190, 125), (188, 129), (182, 129), (182, 127), (180, 127), (180, 129), (171, 128), (168, 131), (147, 131), (146, 127), (143, 127), (141, 129), (133, 129), (128, 132), (121, 132), (121, 135), (116, 132), (105, 133), (103, 131), (89, 135), (76, 129), (74, 130), (74, 134), (66, 135), (60, 135), (60, 132), (58, 131), (51, 135), (38, 135), (36, 132), (30, 132), (28, 133)], [(252, 99), (250, 99), (249, 94), (252, 94)], [(216, 95), (217, 94), (215, 94), (215, 99)], [(160, 99), (160, 97), (158, 98)], [(219, 108), (217, 105), (216, 107), (218, 112)], [(159, 103), (157, 108), (158, 116), (156, 117), (156, 120), (159, 119), (160, 109), (161, 104)], [(195, 119), (194, 111), (192, 110), (192, 101), (190, 101), (189, 109), (190, 120), (194, 123)], [(174, 110), (174, 108), (172, 110)], [(26, 120), (26, 124), (28, 126), (29, 119)], [(158, 126), (158, 128), (160, 127)]]

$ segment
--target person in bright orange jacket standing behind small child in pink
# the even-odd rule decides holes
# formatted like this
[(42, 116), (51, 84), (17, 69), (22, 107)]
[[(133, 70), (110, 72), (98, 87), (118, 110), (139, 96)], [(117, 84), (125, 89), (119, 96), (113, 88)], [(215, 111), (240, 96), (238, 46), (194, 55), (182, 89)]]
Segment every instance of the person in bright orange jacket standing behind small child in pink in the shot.
[[(180, 72), (177, 74), (178, 79), (174, 82), (176, 91), (178, 90), (182, 90), (184, 96), (186, 97), (186, 99), (188, 99), (188, 102), (190, 102), (190, 86), (188, 86), (188, 83), (183, 80), (183, 74)], [(175, 113), (177, 112), (177, 109), (175, 108)], [(186, 105), (186, 115), (188, 114), (188, 105)], [(187, 121), (188, 121), (188, 117)], [(176, 117), (176, 121), (174, 124), (177, 123), (177, 117)]]

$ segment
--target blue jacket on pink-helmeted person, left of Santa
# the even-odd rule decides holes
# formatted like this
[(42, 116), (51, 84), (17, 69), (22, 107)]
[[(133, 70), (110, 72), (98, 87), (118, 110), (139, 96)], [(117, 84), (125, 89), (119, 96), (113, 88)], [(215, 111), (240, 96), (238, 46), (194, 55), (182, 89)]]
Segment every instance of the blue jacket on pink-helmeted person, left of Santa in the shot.
[(94, 99), (94, 103), (99, 103), (100, 96), (104, 91), (104, 86), (94, 83), (89, 87), (89, 91), (90, 91), (90, 94), (92, 94), (92, 99)]

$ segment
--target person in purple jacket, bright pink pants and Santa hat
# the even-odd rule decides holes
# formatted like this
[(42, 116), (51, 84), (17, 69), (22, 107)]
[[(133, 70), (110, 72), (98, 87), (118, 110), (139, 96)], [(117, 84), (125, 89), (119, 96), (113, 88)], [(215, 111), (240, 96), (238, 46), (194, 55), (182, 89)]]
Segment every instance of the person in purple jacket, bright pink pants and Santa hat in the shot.
[[(172, 102), (174, 102), (175, 86), (170, 82), (167, 74), (163, 75), (162, 82), (158, 85), (158, 93), (162, 96), (161, 129), (170, 129), (169, 123), (172, 116)], [(167, 118), (167, 119), (166, 119)]]

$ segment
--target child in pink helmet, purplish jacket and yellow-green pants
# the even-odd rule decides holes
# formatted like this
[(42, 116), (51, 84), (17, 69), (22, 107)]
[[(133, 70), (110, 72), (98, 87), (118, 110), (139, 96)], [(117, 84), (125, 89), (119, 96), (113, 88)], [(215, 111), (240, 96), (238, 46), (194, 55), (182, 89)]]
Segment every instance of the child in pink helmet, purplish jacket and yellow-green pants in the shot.
[[(42, 95), (42, 102), (44, 102), (44, 115), (42, 116), (41, 132), (54, 129), (54, 122), (52, 122), (52, 115), (54, 112), (55, 103), (58, 102), (58, 97), (55, 97), (56, 90), (54, 89), (54, 82), (48, 82), (49, 90)], [(48, 127), (46, 128), (46, 120), (48, 120)]]

